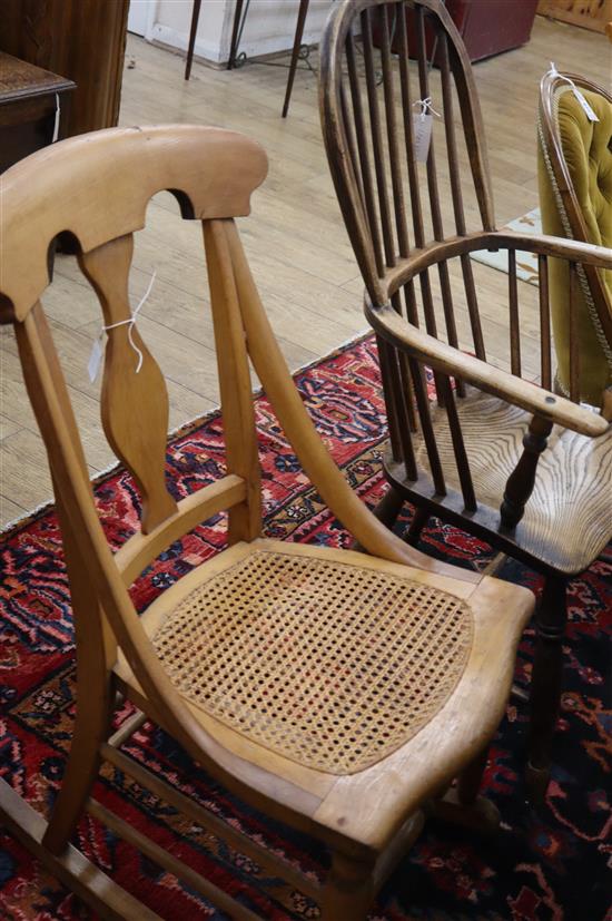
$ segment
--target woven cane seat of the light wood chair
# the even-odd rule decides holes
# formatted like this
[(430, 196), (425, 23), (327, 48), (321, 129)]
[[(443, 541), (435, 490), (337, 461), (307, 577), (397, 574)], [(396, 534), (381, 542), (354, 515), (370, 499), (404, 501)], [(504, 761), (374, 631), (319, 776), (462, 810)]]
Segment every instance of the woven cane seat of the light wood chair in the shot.
[[(481, 621), (495, 614), (491, 599), (486, 615), (472, 604), (483, 586), (504, 596), (497, 611), (511, 613), (502, 627), (507, 641), (487, 653), (495, 724), (533, 604), (516, 586), (256, 540), (195, 569), (141, 619), (170, 679), (217, 741), (323, 794), (340, 777), (375, 774), (450, 705), (457, 709), (451, 761), (473, 756), (474, 728), (484, 727), (470, 728), (480, 712), (470, 696), (487, 693), (474, 674), (475, 663), (483, 667)], [(135, 687), (125, 659), (116, 672)], [(424, 741), (433, 776), (444, 746), (435, 733)], [(421, 763), (422, 746), (416, 751)], [(418, 788), (422, 770), (414, 774)], [(408, 776), (404, 795), (406, 784)]]

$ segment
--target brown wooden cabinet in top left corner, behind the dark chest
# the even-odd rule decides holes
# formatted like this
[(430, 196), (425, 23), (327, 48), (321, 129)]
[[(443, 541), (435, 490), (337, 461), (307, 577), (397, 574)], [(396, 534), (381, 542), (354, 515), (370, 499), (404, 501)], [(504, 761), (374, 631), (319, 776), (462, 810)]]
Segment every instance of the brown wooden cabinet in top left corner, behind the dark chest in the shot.
[(73, 80), (66, 136), (117, 125), (129, 0), (1, 0), (0, 50)]

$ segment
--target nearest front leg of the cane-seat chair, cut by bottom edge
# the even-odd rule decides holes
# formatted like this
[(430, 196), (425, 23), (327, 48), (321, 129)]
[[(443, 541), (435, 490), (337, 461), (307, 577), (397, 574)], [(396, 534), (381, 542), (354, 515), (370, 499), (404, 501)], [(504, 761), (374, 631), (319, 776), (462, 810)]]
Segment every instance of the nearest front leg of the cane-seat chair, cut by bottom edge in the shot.
[(357, 863), (334, 854), (323, 890), (320, 921), (365, 921), (374, 901), (374, 861)]

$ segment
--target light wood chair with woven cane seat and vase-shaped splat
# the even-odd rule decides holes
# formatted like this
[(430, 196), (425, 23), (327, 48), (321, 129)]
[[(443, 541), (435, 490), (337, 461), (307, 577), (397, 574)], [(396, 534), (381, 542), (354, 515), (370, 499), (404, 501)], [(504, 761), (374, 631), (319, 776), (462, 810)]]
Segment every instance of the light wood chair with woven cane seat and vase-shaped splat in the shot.
[[(289, 376), (234, 224), (248, 214), (266, 169), (257, 144), (184, 125), (82, 135), (2, 180), (0, 317), (14, 327), (49, 455), (73, 605), (77, 716), (49, 821), (6, 782), (0, 814), (103, 918), (157, 915), (70, 844), (85, 812), (231, 917), (255, 915), (95, 798), (102, 762), (322, 902), (326, 921), (365, 918), (428, 809), (491, 820), (476, 796), (480, 776), (533, 596), (408, 547), (349, 489)], [(178, 503), (164, 478), (164, 378), (136, 326), (125, 323), (132, 235), (161, 189), (174, 193), (184, 217), (203, 223), (227, 450), (226, 476)], [(142, 497), (141, 529), (115, 556), (40, 302), (50, 246), (66, 232), (112, 326), (102, 425)], [(369, 556), (261, 536), (248, 359), (313, 483)], [(228, 549), (139, 617), (128, 594), (135, 578), (224, 509)], [(142, 717), (110, 735), (117, 693), (229, 790), (328, 845), (325, 885), (126, 756), (120, 745)]]

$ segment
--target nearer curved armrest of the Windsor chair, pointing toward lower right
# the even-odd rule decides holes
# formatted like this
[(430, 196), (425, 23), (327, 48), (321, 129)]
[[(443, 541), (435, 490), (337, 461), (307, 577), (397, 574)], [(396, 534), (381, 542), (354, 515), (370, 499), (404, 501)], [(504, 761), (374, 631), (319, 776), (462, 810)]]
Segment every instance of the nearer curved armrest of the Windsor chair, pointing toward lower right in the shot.
[(375, 307), (366, 301), (365, 313), (383, 339), (436, 371), (457, 376), (486, 393), (580, 434), (598, 438), (608, 431), (609, 423), (603, 417), (441, 342), (412, 326), (389, 305)]

